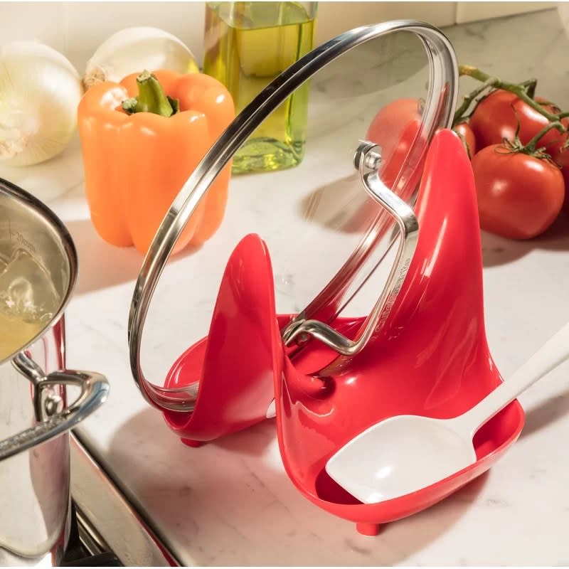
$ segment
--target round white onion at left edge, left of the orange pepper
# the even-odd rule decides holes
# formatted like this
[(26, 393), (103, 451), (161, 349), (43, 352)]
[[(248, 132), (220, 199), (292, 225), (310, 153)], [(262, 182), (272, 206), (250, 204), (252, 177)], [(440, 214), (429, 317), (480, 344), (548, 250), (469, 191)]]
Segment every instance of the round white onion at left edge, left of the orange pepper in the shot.
[(53, 48), (34, 41), (0, 46), (0, 164), (38, 164), (63, 151), (82, 95), (77, 70)]

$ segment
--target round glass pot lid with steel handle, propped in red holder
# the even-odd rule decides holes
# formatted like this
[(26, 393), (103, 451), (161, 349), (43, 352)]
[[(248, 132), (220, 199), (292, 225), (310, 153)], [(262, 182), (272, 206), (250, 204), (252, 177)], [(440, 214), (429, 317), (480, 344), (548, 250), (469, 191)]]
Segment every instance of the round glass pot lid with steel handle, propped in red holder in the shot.
[[(385, 322), (413, 257), (422, 163), (435, 132), (450, 127), (457, 85), (454, 50), (440, 30), (390, 21), (312, 50), (240, 112), (171, 204), (134, 289), (130, 363), (151, 404), (193, 409), (198, 378), (187, 388), (162, 388), (147, 381), (141, 358), (144, 368), (164, 377), (160, 366), (207, 334), (225, 262), (248, 233), (260, 235), (270, 251), (277, 312), (294, 314), (282, 329), (285, 343), (302, 349), (307, 341), (322, 341), (345, 355), (363, 349)], [(300, 164), (234, 175), (216, 235), (172, 257), (164, 272), (216, 176), (291, 96), (306, 103), (305, 128), (292, 133), (302, 142)], [(339, 314), (368, 317), (348, 339), (331, 325)], [(145, 323), (147, 346), (147, 335), (158, 329), (154, 319), (171, 323), (171, 337), (150, 338), (143, 352)]]

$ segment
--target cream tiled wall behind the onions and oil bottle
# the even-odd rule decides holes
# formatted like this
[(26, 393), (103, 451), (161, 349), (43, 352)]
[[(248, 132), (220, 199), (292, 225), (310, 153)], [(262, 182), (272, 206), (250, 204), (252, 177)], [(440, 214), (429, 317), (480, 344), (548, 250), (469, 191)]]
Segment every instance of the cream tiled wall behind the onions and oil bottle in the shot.
[[(329, 2), (319, 3), (317, 43), (342, 31), (394, 18), (435, 26), (555, 6), (554, 2)], [(62, 51), (83, 71), (87, 58), (111, 33), (127, 26), (156, 26), (174, 33), (202, 57), (203, 2), (0, 1), (0, 43), (37, 39)]]

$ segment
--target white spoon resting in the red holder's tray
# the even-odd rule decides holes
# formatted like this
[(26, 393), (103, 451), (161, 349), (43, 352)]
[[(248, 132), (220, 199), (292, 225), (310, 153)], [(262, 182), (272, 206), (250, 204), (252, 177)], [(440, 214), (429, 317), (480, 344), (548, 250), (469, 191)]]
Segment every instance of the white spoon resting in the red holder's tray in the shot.
[(569, 356), (569, 324), (466, 413), (452, 419), (398, 415), (372, 425), (326, 463), (364, 504), (398, 498), (476, 462), (472, 438), (485, 422)]

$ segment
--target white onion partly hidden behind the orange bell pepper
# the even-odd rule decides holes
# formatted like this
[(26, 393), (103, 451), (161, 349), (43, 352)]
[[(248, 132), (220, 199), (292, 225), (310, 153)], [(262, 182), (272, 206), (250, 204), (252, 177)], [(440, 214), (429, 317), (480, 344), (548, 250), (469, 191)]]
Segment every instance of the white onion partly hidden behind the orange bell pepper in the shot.
[(86, 89), (102, 81), (120, 81), (142, 70), (197, 73), (196, 58), (176, 36), (159, 28), (124, 28), (107, 38), (87, 62)]

